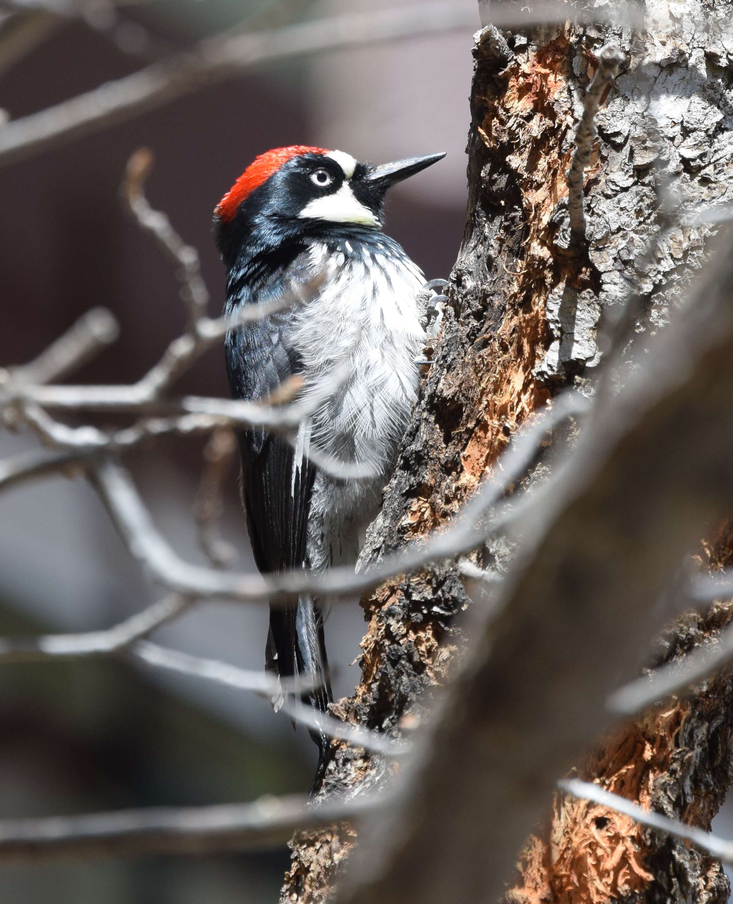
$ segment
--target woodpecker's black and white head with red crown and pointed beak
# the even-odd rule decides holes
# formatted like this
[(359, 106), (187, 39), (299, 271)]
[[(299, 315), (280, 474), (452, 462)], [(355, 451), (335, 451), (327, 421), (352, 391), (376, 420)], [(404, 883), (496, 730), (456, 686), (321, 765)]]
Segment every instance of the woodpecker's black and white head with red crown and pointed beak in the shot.
[(387, 190), (437, 163), (445, 154), (373, 166), (343, 151), (281, 147), (258, 156), (214, 212), (222, 251), (232, 228), (256, 226), (288, 233), (351, 224), (379, 229)]

